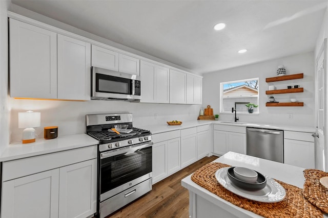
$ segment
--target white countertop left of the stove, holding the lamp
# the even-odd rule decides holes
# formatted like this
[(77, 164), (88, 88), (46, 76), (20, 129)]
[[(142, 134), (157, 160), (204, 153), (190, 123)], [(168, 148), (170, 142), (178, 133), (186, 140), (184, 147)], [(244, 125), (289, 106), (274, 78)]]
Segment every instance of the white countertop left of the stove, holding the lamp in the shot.
[(87, 134), (59, 136), (54, 139), (37, 138), (33, 143), (12, 143), (0, 156), (0, 161), (9, 161), (36, 155), (49, 154), (98, 144), (99, 141)]

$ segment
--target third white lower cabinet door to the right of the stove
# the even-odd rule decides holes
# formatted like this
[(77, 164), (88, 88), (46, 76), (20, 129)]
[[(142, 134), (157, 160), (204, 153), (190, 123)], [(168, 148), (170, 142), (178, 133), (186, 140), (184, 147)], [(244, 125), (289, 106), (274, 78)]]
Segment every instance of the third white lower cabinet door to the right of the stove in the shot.
[(197, 160), (197, 134), (181, 137), (181, 168)]

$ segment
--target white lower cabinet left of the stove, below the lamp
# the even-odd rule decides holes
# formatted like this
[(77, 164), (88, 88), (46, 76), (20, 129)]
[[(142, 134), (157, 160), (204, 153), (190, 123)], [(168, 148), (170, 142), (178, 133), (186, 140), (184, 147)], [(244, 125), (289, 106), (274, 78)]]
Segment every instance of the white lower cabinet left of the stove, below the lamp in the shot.
[[(97, 146), (75, 150), (67, 151), (67, 155), (65, 152), (57, 152), (4, 162), (1, 217), (93, 215), (96, 212)], [(87, 157), (93, 159), (81, 161)], [(17, 168), (21, 164), (24, 165)], [(35, 164), (41, 166), (33, 167)], [(45, 167), (52, 169), (33, 174), (29, 172), (30, 175), (26, 175), (25, 168)], [(16, 178), (11, 178), (12, 175), (16, 175)]]

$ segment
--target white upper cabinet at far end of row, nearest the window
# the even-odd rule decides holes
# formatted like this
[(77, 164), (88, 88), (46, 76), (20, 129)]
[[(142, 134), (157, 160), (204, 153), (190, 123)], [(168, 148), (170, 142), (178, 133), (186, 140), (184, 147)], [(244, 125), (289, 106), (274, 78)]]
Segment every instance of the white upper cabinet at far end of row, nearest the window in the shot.
[(187, 74), (187, 104), (201, 104), (202, 78)]

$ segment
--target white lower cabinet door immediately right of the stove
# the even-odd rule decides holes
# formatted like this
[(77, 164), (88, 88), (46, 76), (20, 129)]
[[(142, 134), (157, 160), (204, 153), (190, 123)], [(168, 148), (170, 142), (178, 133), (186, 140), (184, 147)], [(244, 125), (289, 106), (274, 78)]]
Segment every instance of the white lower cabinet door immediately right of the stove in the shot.
[(153, 184), (167, 175), (167, 141), (153, 144)]

